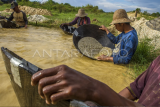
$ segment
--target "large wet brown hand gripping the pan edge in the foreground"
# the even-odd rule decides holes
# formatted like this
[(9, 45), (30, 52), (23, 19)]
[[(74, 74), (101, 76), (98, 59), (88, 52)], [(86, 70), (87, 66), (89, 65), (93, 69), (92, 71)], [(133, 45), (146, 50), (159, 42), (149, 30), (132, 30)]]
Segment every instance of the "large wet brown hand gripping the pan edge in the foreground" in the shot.
[(47, 104), (68, 99), (92, 101), (98, 87), (97, 80), (65, 65), (37, 72), (31, 84), (38, 84), (38, 93)]

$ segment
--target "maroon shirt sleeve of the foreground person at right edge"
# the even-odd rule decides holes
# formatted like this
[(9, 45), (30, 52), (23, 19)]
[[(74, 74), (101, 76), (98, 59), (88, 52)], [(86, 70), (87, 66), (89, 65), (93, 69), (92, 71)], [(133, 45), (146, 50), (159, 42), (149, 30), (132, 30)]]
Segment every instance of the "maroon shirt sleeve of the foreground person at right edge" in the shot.
[(145, 107), (160, 107), (160, 56), (127, 89)]

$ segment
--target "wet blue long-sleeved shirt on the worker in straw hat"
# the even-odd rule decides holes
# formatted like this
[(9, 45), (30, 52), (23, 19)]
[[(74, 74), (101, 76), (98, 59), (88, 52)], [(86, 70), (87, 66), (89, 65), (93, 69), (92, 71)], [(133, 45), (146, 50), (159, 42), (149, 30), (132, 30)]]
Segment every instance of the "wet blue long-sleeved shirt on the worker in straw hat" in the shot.
[(134, 29), (128, 33), (122, 32), (117, 37), (112, 33), (109, 33), (107, 36), (112, 43), (116, 44), (116, 47), (113, 50), (114, 64), (128, 64), (138, 46), (136, 30)]

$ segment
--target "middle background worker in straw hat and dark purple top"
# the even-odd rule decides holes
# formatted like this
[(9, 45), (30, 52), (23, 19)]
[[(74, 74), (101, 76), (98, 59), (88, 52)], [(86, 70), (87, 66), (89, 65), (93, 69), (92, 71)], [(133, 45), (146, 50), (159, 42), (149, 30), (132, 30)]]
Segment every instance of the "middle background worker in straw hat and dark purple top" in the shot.
[(76, 14), (76, 18), (70, 22), (70, 23), (64, 23), (63, 25), (68, 25), (68, 26), (72, 26), (77, 24), (77, 27), (85, 25), (85, 24), (90, 24), (90, 18), (87, 17), (88, 14), (85, 13), (84, 9), (79, 9), (78, 10), (78, 14)]

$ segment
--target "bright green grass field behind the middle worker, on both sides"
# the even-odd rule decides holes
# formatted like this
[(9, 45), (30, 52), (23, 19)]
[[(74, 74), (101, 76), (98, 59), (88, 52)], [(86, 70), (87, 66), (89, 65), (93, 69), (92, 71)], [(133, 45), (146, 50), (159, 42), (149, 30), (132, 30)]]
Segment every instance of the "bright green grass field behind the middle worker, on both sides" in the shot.
[[(48, 18), (49, 21), (45, 22), (45, 23), (34, 23), (34, 22), (29, 22), (30, 25), (35, 25), (35, 26), (42, 26), (42, 27), (54, 27), (54, 28), (58, 28), (60, 24), (62, 23), (69, 23), (71, 21), (74, 20), (74, 18), (76, 17), (75, 14), (77, 13), (58, 13), (58, 12), (54, 12), (52, 13), (53, 16), (46, 16), (44, 15), (44, 17)], [(112, 17), (113, 14), (110, 13), (101, 13), (101, 14), (95, 14), (95, 13), (88, 13), (88, 17), (91, 20), (92, 24), (96, 24), (96, 25), (105, 25), (105, 26), (109, 26), (109, 24), (112, 22)], [(97, 19), (98, 21), (96, 22), (92, 22), (93, 19)]]

